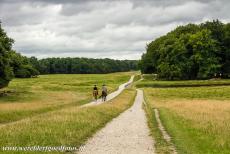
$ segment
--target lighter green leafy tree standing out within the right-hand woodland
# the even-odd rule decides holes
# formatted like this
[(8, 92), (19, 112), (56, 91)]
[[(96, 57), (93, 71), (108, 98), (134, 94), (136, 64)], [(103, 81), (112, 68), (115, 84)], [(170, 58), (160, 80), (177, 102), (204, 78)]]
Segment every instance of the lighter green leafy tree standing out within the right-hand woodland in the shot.
[(193, 47), (193, 55), (190, 59), (193, 61), (193, 67), (197, 69), (198, 79), (207, 79), (220, 71), (220, 57), (216, 57), (219, 51), (218, 43), (212, 39), (209, 30), (201, 30), (191, 35), (190, 44)]

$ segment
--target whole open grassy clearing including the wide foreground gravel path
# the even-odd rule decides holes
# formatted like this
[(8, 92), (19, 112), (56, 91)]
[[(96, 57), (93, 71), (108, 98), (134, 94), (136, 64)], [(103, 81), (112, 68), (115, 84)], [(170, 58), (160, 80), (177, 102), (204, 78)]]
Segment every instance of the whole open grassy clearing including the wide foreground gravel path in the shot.
[[(7, 124), (0, 127), (0, 147), (65, 145), (83, 147), (82, 153), (230, 152), (230, 86), (218, 86), (228, 84), (229, 80), (200, 87), (201, 81), (188, 81), (178, 87), (181, 82), (141, 80), (136, 86), (144, 90), (147, 119), (142, 94), (139, 91), (134, 101), (136, 91), (132, 88), (107, 103), (79, 107), (92, 100), (95, 83), (106, 83), (112, 92), (133, 74), (103, 75), (101, 82), (98, 82), (101, 75), (49, 75), (14, 80), (6, 90), (15, 91), (0, 99), (0, 120), (2, 125)], [(136, 76), (134, 81), (140, 78)], [(145, 87), (146, 83), (151, 87)], [(168, 141), (159, 129), (159, 120), (170, 136)]]

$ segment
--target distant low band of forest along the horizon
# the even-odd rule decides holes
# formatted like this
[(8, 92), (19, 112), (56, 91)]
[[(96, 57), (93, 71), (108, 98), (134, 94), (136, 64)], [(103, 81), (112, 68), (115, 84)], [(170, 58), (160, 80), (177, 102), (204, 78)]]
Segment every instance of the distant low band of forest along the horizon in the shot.
[(91, 58), (29, 58), (41, 74), (101, 74), (138, 69), (136, 60), (113, 60)]

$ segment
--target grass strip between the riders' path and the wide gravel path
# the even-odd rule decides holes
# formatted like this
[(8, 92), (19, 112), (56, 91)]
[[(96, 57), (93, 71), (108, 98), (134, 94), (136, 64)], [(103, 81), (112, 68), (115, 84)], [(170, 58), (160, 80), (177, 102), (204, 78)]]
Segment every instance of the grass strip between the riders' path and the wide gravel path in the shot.
[(87, 108), (65, 108), (0, 128), (0, 147), (79, 147), (107, 122), (129, 108), (135, 94), (135, 90), (127, 89), (110, 103)]

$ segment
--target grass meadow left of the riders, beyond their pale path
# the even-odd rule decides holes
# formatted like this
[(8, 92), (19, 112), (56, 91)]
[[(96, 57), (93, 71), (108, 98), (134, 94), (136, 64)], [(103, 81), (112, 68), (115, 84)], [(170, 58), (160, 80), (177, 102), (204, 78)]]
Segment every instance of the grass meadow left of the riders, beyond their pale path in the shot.
[[(106, 84), (109, 92), (127, 82), (133, 72), (90, 75), (40, 75), (14, 79), (0, 97), (0, 123), (8, 123), (92, 100), (92, 87)], [(1, 125), (1, 124), (0, 124)]]

